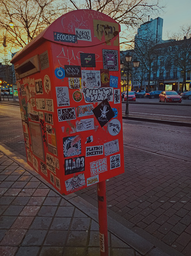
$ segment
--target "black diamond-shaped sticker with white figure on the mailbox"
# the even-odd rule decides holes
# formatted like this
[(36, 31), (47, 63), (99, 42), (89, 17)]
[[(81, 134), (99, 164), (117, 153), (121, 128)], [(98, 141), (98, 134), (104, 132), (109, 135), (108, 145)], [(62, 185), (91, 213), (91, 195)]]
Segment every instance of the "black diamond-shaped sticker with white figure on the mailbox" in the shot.
[(97, 107), (93, 109), (93, 113), (101, 127), (109, 122), (115, 115), (107, 99), (104, 99), (102, 103), (97, 105)]

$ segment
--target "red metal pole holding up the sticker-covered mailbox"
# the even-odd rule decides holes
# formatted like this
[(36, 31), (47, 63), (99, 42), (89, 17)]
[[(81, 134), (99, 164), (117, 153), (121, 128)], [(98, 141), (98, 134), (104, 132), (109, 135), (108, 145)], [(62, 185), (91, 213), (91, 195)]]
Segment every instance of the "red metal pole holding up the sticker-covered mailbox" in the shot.
[(107, 235), (107, 204), (105, 181), (97, 183), (98, 217), (99, 217), (99, 245), (100, 255), (108, 256)]

